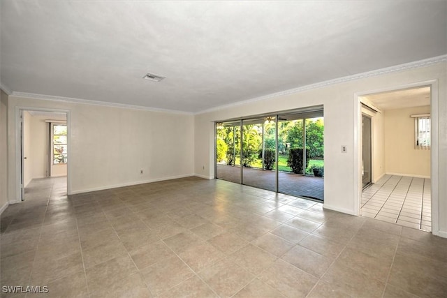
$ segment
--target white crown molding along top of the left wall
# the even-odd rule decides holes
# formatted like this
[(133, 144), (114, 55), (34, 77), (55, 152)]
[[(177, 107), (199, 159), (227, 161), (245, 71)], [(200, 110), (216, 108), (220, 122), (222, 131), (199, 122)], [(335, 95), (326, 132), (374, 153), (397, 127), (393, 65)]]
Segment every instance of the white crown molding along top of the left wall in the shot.
[(142, 110), (142, 111), (149, 111), (149, 112), (163, 112), (163, 113), (169, 113), (169, 114), (186, 114), (186, 115), (193, 115), (192, 112), (184, 112), (179, 110), (168, 110), (168, 109), (161, 109), (156, 107), (143, 107), (142, 105), (127, 105), (125, 103), (109, 103), (105, 101), (99, 101), (99, 100), (88, 100), (88, 99), (81, 99), (81, 98), (71, 98), (71, 97), (64, 97), (64, 96), (52, 96), (52, 95), (44, 95), (44, 94), (33, 94), (33, 93), (27, 93), (27, 92), (16, 92), (13, 91), (11, 96), (17, 96), (22, 98), (33, 98), (38, 100), (50, 100), (50, 101), (59, 101), (64, 103), (80, 103), (83, 105), (101, 105), (105, 107), (120, 107), (124, 109), (131, 109), (131, 110)]

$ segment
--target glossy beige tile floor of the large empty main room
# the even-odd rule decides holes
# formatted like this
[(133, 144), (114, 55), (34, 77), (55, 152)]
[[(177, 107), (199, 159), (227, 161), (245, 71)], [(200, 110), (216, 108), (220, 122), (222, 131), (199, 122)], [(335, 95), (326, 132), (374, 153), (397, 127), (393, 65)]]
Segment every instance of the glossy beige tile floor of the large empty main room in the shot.
[(70, 198), (60, 181), (32, 181), (27, 201), (3, 212), (2, 286), (47, 285), (38, 297), (447, 292), (447, 239), (428, 232), (218, 179)]

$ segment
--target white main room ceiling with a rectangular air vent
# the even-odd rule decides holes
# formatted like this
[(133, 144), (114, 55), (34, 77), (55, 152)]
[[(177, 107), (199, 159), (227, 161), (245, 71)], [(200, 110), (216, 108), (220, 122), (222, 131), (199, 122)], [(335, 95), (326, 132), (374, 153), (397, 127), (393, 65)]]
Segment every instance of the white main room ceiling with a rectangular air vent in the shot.
[(0, 3), (3, 89), (157, 109), (200, 112), (447, 54), (447, 1)]

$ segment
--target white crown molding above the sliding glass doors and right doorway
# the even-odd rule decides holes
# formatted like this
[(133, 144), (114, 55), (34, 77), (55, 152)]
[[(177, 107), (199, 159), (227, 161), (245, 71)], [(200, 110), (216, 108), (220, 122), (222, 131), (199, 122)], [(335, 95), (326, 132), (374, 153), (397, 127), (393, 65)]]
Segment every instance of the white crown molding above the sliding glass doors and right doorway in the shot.
[(327, 81), (323, 81), (323, 82), (318, 82), (315, 84), (309, 84), (306, 86), (302, 86), (302, 87), (297, 87), (297, 88), (293, 88), (293, 89), (288, 89), (288, 90), (284, 90), (284, 91), (279, 91), (273, 94), (268, 94), (265, 96), (259, 96), (256, 98), (251, 98), (248, 100), (242, 100), (242, 101), (237, 101), (236, 103), (230, 103), (228, 105), (219, 105), (219, 107), (212, 107), (210, 109), (207, 110), (202, 110), (200, 112), (196, 112), (194, 113), (195, 115), (198, 114), (205, 114), (207, 112), (215, 112), (217, 110), (222, 110), (222, 109), (226, 109), (229, 107), (235, 107), (237, 105), (245, 105), (247, 103), (253, 103), (256, 101), (260, 101), (260, 100), (265, 100), (268, 98), (274, 98), (274, 97), (279, 97), (279, 96), (286, 96), (286, 95), (290, 95), (290, 94), (297, 94), (300, 93), (302, 91), (307, 91), (310, 89), (317, 89), (317, 88), (322, 88), (322, 87), (328, 87), (330, 85), (334, 85), (334, 84), (340, 84), (340, 83), (344, 83), (344, 82), (351, 82), (351, 81), (355, 81), (355, 80), (360, 80), (360, 79), (365, 79), (367, 77), (376, 77), (379, 75), (386, 75), (388, 73), (397, 73), (403, 70), (410, 70), (413, 68), (423, 68), (423, 67), (427, 67), (427, 66), (432, 66), (433, 64), (437, 64), (440, 62), (446, 62), (447, 61), (447, 54), (445, 55), (441, 55), (441, 56), (437, 56), (437, 57), (432, 57), (432, 58), (428, 58), (428, 59), (423, 59), (423, 60), (418, 60), (418, 61), (413, 61), (413, 62), (409, 62), (406, 64), (400, 64), (400, 65), (396, 65), (396, 66), (390, 66), (387, 68), (381, 68), (381, 69), (377, 69), (377, 70), (371, 70), (371, 71), (367, 71), (366, 73), (358, 73), (356, 75), (348, 75), (346, 77), (337, 77), (336, 79), (332, 79), (332, 80), (327, 80)]

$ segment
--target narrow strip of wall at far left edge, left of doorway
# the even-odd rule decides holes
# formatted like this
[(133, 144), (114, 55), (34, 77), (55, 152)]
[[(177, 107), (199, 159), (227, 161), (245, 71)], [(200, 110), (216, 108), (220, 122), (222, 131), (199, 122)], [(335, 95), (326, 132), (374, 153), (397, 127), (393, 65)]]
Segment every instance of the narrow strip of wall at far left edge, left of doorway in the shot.
[(8, 95), (0, 90), (0, 214), (8, 206)]

